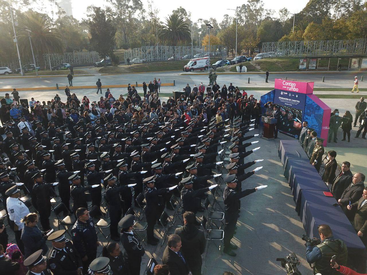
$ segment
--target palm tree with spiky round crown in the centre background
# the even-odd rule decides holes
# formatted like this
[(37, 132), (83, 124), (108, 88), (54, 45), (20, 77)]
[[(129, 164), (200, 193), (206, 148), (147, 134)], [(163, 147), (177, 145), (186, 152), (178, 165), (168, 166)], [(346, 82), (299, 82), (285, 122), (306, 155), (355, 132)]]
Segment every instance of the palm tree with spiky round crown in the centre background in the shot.
[(166, 23), (161, 26), (159, 33), (161, 40), (172, 46), (191, 38), (188, 23), (175, 13), (168, 16), (168, 18), (166, 17)]

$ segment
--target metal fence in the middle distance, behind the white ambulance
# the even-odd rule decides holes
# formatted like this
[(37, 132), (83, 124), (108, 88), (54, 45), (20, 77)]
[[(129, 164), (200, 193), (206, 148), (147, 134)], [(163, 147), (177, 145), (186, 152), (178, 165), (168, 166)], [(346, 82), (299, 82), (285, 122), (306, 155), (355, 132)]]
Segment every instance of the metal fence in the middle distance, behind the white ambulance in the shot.
[(153, 61), (185, 60), (199, 58), (204, 55), (222, 58), (226, 56), (226, 49), (223, 45), (210, 45), (210, 49), (198, 46), (143, 46), (133, 48), (124, 52), (125, 63), (130, 59), (130, 63), (146, 63)]

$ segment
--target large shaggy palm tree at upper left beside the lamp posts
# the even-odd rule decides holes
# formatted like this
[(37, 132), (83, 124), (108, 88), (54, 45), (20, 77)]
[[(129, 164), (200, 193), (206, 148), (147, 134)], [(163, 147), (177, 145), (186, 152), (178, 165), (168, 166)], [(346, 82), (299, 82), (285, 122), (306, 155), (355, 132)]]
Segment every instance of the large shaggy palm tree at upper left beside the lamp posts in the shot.
[(51, 26), (47, 15), (26, 11), (19, 17), (18, 40), (23, 54), (32, 56), (27, 29), (31, 30), (32, 46), (38, 55), (40, 67), (44, 67), (43, 54), (62, 52), (63, 43), (57, 29)]

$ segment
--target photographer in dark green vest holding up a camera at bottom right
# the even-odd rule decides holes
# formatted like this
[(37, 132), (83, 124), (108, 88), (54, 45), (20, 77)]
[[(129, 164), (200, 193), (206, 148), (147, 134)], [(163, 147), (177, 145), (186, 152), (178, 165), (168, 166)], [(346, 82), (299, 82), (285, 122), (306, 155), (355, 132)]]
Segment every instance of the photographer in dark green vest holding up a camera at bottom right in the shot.
[(337, 261), (345, 265), (348, 257), (348, 250), (343, 241), (335, 239), (333, 232), (327, 224), (320, 224), (319, 230), (321, 243), (313, 245), (316, 239), (307, 239), (306, 260), (313, 265), (313, 274), (321, 273), (323, 275), (338, 274), (338, 272), (330, 266), (331, 257), (337, 255)]

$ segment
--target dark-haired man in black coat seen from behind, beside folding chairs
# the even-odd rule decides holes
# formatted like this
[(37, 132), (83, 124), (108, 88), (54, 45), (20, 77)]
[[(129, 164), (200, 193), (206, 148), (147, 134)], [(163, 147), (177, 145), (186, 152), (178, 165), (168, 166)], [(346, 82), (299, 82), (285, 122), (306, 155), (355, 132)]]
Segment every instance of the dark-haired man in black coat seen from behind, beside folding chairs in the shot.
[(183, 217), (183, 227), (176, 228), (175, 234), (179, 235), (182, 243), (182, 254), (188, 262), (193, 275), (201, 275), (201, 255), (205, 250), (206, 239), (204, 232), (195, 227), (195, 214), (185, 212)]

